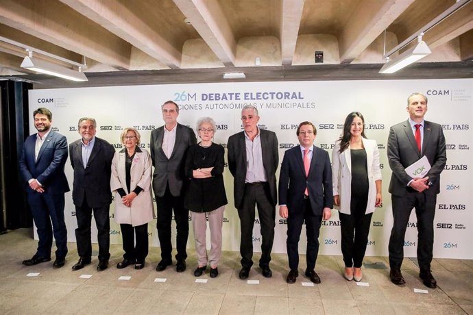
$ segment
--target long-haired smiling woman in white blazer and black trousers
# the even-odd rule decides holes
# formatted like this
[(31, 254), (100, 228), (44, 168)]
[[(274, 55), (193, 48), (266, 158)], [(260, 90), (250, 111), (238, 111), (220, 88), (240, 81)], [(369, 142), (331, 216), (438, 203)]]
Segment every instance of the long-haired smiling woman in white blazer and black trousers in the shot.
[(369, 226), (374, 208), (383, 203), (378, 144), (368, 140), (365, 119), (348, 114), (343, 134), (332, 151), (333, 199), (339, 206), (344, 277), (361, 281)]

